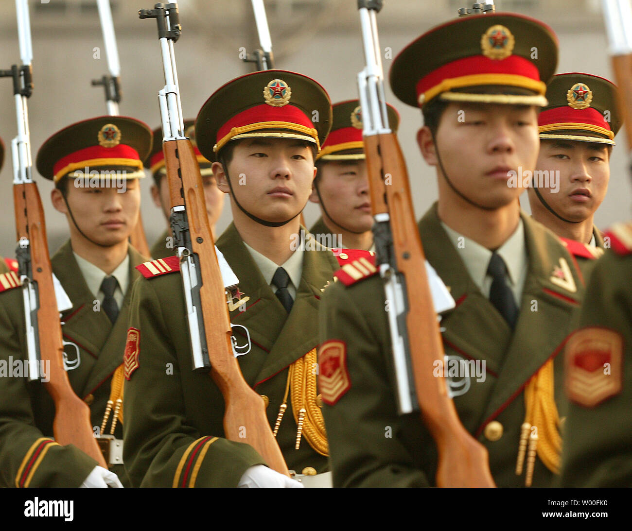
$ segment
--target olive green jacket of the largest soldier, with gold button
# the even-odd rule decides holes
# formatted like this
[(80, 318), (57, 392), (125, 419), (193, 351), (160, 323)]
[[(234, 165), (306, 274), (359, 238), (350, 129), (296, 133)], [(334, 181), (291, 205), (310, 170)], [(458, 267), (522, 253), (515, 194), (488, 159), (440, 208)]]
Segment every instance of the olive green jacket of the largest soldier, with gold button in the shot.
[[(497, 486), (523, 486), (514, 473), (520, 427), (525, 420), (523, 388), (547, 360), (556, 357), (569, 333), (583, 287), (577, 272), (569, 288), (552, 282), (560, 260), (571, 256), (557, 237), (522, 215), (528, 273), (520, 317), (512, 333), (501, 314), (480, 292), (437, 216), (428, 210), (419, 224), (427, 260), (451, 290), (456, 307), (442, 314), (446, 355), (485, 361), (485, 381), (454, 398), (466, 429), (489, 451)], [(572, 266), (570, 266), (572, 267)], [(419, 414), (398, 416), (394, 394), (391, 338), (379, 275), (325, 290), (320, 313), (321, 342), (346, 342), (349, 390), (324, 405), (334, 486), (432, 486), (437, 452)], [(556, 397), (561, 364), (556, 361)], [(500, 423), (500, 426), (499, 424)], [(548, 486), (552, 472), (539, 459), (533, 486)]]

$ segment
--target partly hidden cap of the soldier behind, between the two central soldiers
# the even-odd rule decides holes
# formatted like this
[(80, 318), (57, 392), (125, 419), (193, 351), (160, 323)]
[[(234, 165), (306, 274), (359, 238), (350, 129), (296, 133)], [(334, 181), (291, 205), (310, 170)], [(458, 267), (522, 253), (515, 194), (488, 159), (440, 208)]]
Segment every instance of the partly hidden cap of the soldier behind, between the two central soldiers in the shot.
[[(389, 126), (397, 131), (399, 113), (386, 104)], [(365, 158), (362, 140), (362, 109), (359, 100), (339, 102), (332, 106), (331, 131), (321, 146), (317, 160), (354, 160)]]

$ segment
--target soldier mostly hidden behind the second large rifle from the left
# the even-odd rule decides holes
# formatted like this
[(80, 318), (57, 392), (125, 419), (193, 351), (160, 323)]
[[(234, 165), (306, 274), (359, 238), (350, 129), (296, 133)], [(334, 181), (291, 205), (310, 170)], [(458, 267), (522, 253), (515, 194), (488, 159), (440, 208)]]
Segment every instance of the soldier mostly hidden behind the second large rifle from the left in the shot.
[[(200, 165), (200, 174), (202, 174), (202, 183), (204, 184), (204, 197), (206, 199), (206, 211), (209, 214), (210, 228), (215, 236), (215, 225), (222, 213), (224, 206), (224, 194), (217, 188), (217, 181), (213, 176), (212, 162), (204, 158), (195, 143), (194, 120), (185, 120), (185, 135), (191, 139), (193, 151), (197, 155), (198, 164)], [(173, 236), (171, 227), (169, 226), (169, 216), (171, 215), (171, 205), (169, 203), (169, 184), (164, 177), (167, 175), (164, 165), (164, 153), (162, 152), (162, 128), (154, 129), (154, 138), (156, 139), (152, 147), (152, 152), (145, 160), (145, 168), (149, 169), (154, 177), (151, 192), (154, 203), (161, 208), (164, 217), (167, 220), (167, 228), (158, 237), (154, 245), (150, 249), (152, 258), (167, 258), (173, 256), (176, 251), (173, 247)]]

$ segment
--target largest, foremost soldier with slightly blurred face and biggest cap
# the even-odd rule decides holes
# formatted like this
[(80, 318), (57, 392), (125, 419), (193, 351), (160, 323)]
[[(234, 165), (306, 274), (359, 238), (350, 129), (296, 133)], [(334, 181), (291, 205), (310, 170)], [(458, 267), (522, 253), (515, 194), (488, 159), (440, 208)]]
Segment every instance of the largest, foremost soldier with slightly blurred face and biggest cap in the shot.
[[(437, 169), (439, 201), (418, 226), (456, 301), (441, 319), (458, 369), (446, 381), (461, 422), (489, 452), (497, 486), (548, 486), (559, 468), (554, 359), (582, 287), (557, 237), (520, 212), (523, 184), (510, 182), (520, 167), (535, 167), (537, 107), (556, 64), (552, 30), (505, 13), (430, 30), (390, 73), (394, 94), (422, 108), (418, 145)], [(334, 486), (432, 485), (436, 446), (420, 415), (398, 416), (384, 288), (367, 269), (336, 273), (341, 282), (325, 290), (320, 313)], [(518, 475), (521, 443), (535, 433), (537, 458), (523, 455)]]

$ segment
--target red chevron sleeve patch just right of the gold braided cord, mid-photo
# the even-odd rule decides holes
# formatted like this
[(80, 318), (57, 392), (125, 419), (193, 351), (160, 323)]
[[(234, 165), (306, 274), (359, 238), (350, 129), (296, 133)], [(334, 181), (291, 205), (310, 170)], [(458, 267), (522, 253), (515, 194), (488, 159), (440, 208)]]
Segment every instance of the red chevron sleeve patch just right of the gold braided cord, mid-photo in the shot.
[(347, 370), (347, 345), (327, 341), (320, 347), (318, 384), (322, 401), (334, 405), (351, 388)]

